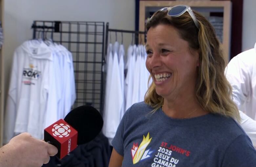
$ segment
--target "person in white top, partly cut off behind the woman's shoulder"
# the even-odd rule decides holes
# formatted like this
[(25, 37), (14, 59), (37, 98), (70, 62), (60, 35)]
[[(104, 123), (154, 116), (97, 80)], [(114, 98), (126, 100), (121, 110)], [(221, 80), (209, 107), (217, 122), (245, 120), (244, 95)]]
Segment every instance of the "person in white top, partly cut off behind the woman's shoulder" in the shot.
[(233, 100), (240, 110), (241, 126), (256, 147), (256, 43), (230, 60), (226, 77)]

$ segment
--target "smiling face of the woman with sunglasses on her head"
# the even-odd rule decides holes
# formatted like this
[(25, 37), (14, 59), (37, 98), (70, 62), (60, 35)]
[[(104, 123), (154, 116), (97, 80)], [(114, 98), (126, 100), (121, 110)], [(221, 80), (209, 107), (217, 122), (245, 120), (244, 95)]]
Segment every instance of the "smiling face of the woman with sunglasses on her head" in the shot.
[(164, 98), (195, 93), (199, 53), (189, 49), (171, 25), (151, 27), (147, 33), (146, 67), (156, 84), (156, 92)]

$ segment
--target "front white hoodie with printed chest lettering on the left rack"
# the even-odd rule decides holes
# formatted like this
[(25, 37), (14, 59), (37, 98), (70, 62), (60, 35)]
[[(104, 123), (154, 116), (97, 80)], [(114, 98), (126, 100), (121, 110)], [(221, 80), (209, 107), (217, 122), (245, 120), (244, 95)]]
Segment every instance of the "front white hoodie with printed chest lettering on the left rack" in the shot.
[(53, 55), (44, 42), (32, 45), (26, 41), (15, 50), (5, 110), (4, 143), (14, 133), (21, 132), (42, 139), (48, 99), (55, 97), (51, 94), (51, 85), (55, 84), (52, 72)]

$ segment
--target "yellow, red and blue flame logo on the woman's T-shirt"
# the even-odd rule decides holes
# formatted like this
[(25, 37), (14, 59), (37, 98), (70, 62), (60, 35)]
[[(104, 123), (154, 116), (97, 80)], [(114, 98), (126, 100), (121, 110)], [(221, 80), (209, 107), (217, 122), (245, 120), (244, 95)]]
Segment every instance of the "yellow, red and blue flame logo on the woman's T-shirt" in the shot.
[(151, 142), (151, 139), (152, 138), (149, 138), (149, 132), (148, 132), (146, 137), (143, 135), (143, 140), (139, 144), (139, 147), (138, 147), (138, 143), (136, 144), (133, 143), (133, 147), (131, 149), (133, 164), (136, 164), (140, 160), (149, 158), (151, 156), (151, 153), (153, 151), (150, 151), (150, 149), (146, 150), (148, 144)]

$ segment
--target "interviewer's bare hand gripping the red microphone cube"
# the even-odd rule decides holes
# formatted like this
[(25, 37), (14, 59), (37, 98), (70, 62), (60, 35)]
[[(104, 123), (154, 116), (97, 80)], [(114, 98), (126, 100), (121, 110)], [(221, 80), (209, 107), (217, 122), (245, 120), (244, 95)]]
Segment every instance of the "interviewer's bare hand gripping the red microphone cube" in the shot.
[(33, 138), (29, 133), (15, 136), (0, 148), (1, 167), (40, 167), (57, 154), (55, 146)]

